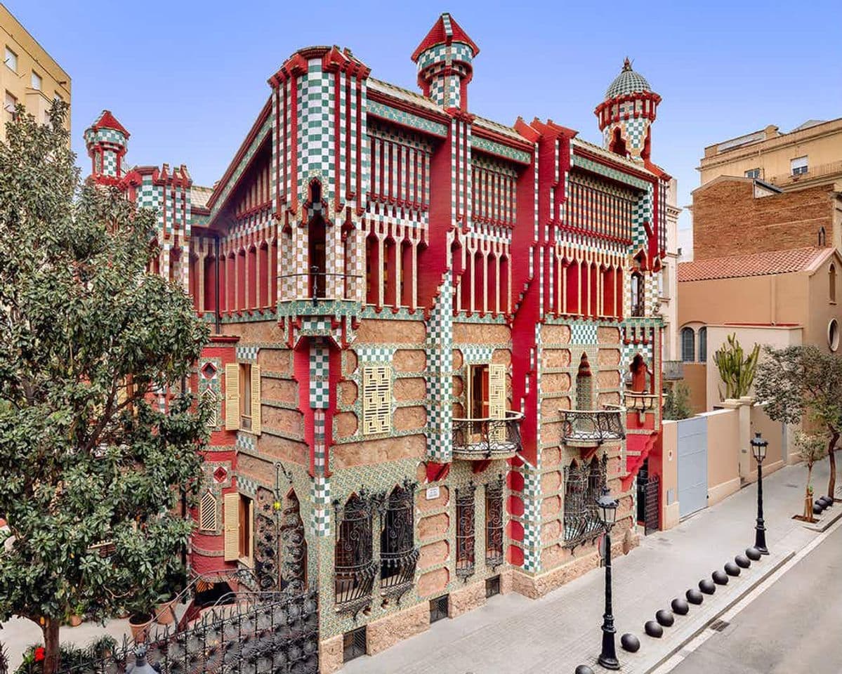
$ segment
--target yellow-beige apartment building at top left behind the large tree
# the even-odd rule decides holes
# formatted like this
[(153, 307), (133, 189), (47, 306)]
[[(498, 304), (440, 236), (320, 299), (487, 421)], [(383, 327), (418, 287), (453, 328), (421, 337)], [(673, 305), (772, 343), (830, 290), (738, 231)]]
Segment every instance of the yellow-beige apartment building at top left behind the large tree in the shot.
[[(3, 94), (3, 124), (0, 141), (6, 139), (6, 122), (14, 106), (21, 103), (35, 119), (45, 121), (54, 98), (70, 103), (70, 76), (47, 54), (11, 12), (0, 3), (0, 93)], [(70, 130), (70, 117), (66, 121)]]

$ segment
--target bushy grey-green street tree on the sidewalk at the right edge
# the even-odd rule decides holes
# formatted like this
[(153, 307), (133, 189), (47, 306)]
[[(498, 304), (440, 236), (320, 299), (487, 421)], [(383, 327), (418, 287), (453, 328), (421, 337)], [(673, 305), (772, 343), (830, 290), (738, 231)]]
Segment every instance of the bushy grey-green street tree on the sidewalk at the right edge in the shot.
[(836, 489), (836, 441), (842, 431), (842, 358), (814, 346), (765, 348), (755, 391), (770, 419), (798, 423), (804, 417), (826, 432), (830, 463), (828, 495)]

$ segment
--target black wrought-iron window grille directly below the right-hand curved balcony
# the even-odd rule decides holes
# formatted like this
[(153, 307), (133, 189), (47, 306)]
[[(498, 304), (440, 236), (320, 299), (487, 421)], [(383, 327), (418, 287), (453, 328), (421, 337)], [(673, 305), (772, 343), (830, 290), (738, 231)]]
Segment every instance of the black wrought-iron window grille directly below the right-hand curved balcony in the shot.
[(594, 457), (590, 464), (575, 462), (564, 469), (564, 546), (575, 548), (602, 531), (596, 512), (596, 499), (605, 486), (607, 455)]

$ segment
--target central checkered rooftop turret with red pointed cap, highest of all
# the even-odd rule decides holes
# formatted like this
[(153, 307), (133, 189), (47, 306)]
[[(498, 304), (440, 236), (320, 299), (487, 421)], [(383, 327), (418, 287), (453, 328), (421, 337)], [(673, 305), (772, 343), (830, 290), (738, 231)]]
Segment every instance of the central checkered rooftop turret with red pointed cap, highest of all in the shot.
[(413, 51), (413, 61), (418, 64), (418, 86), (424, 96), (445, 109), (467, 110), (467, 87), (477, 54), (479, 47), (456, 19), (442, 14)]

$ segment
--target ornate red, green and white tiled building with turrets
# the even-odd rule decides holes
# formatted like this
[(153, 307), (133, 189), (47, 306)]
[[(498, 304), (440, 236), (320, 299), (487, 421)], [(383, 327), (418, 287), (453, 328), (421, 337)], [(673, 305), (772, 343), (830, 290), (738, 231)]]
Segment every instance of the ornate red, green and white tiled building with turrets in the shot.
[(502, 125), (469, 108), (478, 54), (441, 15), (413, 93), (296, 51), (212, 190), (127, 170), (110, 113), (86, 132), (213, 326), (192, 569), (317, 586), (322, 671), (598, 565), (605, 485), (633, 545), (636, 477), (658, 474), (660, 98), (626, 61), (605, 146)]

